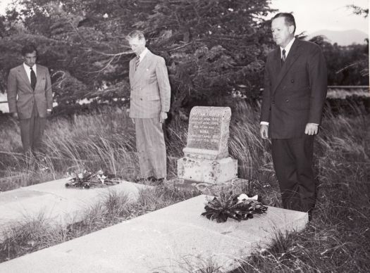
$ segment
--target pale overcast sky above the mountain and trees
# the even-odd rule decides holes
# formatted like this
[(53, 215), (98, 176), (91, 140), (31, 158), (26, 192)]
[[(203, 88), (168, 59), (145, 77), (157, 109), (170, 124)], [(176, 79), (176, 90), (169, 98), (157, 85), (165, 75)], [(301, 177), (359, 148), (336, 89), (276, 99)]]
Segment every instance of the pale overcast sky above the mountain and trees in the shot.
[[(0, 14), (5, 13), (11, 0), (0, 0)], [(271, 0), (271, 7), (281, 12), (293, 12), (297, 33), (317, 30), (362, 30), (369, 33), (369, 18), (354, 15), (345, 8), (354, 4), (369, 8), (369, 0)]]

